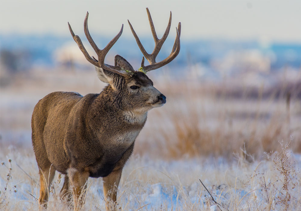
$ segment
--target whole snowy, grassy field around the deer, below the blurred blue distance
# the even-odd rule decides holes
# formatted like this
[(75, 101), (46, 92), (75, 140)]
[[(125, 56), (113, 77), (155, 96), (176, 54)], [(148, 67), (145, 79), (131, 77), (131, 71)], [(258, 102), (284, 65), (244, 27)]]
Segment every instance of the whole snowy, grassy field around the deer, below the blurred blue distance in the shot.
[[(167, 103), (149, 112), (136, 139), (119, 184), (118, 208), (300, 210), (300, 76), (293, 84), (279, 79), (273, 87), (250, 87), (171, 75), (149, 74)], [(85, 95), (105, 84), (93, 70), (63, 68), (2, 74), (2, 84), (3, 78), (0, 209), (37, 210), (34, 105), (53, 91)], [(69, 209), (59, 200), (61, 177), (56, 173), (51, 184), (49, 210)], [(105, 210), (101, 178), (89, 178), (83, 210)]]

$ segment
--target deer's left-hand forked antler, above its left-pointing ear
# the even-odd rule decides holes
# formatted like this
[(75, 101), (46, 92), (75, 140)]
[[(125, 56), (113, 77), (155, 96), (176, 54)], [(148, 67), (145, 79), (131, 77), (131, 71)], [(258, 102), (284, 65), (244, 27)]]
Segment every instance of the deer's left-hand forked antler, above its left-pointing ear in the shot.
[(114, 66), (107, 65), (107, 64), (104, 63), (104, 58), (106, 57), (108, 51), (112, 48), (112, 46), (116, 43), (116, 41), (119, 39), (119, 37), (122, 34), (123, 24), (122, 24), (122, 27), (121, 27), (121, 30), (119, 31), (119, 33), (107, 44), (107, 46), (104, 49), (101, 50), (101, 49), (99, 49), (96, 46), (94, 40), (92, 39), (92, 37), (91, 37), (91, 35), (89, 33), (89, 30), (88, 30), (88, 15), (89, 15), (89, 13), (87, 12), (87, 15), (86, 15), (85, 21), (84, 21), (84, 31), (85, 31), (85, 35), (86, 35), (86, 37), (87, 37), (90, 45), (92, 46), (92, 48), (94, 49), (94, 51), (96, 52), (96, 54), (98, 56), (98, 61), (94, 57), (91, 58), (91, 56), (88, 54), (88, 52), (86, 51), (85, 47), (83, 46), (81, 39), (79, 38), (79, 36), (77, 36), (77, 35), (74, 34), (74, 32), (71, 29), (71, 26), (70, 26), (70, 24), (68, 22), (70, 33), (71, 33), (74, 41), (79, 46), (79, 49), (85, 55), (85, 58), (90, 63), (92, 63), (93, 65), (95, 65), (95, 66), (97, 66), (99, 68), (103, 68), (103, 69), (108, 70), (108, 71), (112, 71), (112, 72), (117, 73), (119, 75), (122, 75), (124, 77), (128, 76), (128, 74), (127, 74), (126, 71), (119, 70), (119, 69), (117, 69)]

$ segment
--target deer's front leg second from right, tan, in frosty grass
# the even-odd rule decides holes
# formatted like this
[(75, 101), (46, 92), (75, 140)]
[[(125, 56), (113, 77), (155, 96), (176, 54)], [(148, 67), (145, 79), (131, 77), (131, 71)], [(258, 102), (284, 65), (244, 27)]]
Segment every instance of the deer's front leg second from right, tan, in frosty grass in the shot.
[(73, 195), (74, 210), (81, 209), (85, 197), (86, 182), (89, 178), (89, 172), (77, 171), (75, 168), (68, 169), (68, 177), (70, 178), (71, 192)]

